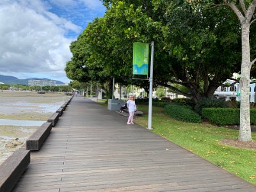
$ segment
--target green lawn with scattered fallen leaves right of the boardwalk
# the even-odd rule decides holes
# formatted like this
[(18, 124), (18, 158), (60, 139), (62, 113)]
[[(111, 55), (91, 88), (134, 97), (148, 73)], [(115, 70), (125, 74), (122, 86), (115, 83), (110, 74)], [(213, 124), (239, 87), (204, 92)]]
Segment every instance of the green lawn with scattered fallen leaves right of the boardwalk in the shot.
[[(136, 118), (134, 122), (147, 127), (147, 106), (141, 104), (140, 111), (145, 115)], [(256, 184), (256, 150), (236, 148), (221, 143), (224, 139), (236, 139), (239, 131), (210, 124), (180, 122), (166, 116), (163, 108), (155, 106), (152, 113), (152, 127), (154, 128), (152, 132)], [(252, 137), (255, 141), (255, 132), (252, 132)], [(253, 175), (255, 175), (254, 179)]]

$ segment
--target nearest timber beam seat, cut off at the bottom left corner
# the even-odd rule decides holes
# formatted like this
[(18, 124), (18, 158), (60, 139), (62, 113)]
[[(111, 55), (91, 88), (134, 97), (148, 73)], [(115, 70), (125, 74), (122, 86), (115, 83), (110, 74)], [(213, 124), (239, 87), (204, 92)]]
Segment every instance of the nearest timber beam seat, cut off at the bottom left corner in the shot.
[(0, 165), (0, 192), (12, 191), (30, 163), (29, 150), (17, 150)]

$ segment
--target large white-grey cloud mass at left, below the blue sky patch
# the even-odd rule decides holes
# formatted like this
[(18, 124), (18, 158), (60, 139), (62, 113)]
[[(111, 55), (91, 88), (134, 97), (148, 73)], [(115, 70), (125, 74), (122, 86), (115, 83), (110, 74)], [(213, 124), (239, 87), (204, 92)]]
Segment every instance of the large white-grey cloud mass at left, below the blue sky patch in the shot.
[(0, 5), (0, 74), (67, 79), (72, 39), (65, 33), (81, 28), (49, 12), (39, 0), (1, 0)]

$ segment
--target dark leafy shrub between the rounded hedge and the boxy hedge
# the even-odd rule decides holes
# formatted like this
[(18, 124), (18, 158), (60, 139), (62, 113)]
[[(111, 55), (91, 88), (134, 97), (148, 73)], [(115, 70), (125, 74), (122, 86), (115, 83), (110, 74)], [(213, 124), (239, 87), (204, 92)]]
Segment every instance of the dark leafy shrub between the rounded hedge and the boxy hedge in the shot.
[(223, 99), (216, 99), (214, 97), (202, 97), (196, 102), (195, 111), (202, 113), (203, 108), (227, 108), (227, 102)]

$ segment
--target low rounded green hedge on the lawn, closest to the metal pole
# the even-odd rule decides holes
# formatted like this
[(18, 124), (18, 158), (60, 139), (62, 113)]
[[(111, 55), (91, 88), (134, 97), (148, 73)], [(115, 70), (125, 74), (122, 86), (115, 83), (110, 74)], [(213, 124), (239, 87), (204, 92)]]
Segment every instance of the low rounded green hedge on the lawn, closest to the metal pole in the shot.
[(189, 106), (182, 106), (177, 104), (168, 104), (164, 106), (164, 111), (177, 120), (191, 123), (201, 123), (202, 118)]

